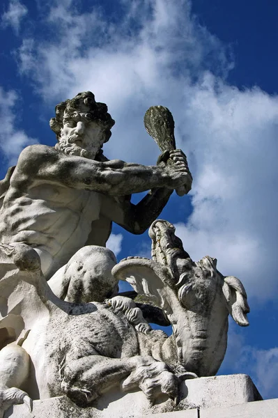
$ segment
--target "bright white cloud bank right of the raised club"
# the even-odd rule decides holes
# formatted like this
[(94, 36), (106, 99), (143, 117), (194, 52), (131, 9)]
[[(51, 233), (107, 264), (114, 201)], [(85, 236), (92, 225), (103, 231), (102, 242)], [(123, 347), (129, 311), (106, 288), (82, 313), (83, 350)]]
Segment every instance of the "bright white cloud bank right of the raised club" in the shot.
[(249, 295), (270, 297), (277, 288), (277, 97), (215, 86), (210, 75), (184, 110), (196, 157), (194, 211), (177, 233), (193, 258), (216, 256), (219, 270), (238, 274)]

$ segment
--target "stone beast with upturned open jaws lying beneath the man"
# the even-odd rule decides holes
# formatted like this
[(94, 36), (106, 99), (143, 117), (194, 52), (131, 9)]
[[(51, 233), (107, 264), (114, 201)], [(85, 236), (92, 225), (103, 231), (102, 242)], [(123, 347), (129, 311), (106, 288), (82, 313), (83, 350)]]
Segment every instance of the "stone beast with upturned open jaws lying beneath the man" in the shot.
[[(239, 325), (248, 325), (246, 293), (238, 279), (217, 271), (215, 259), (206, 256), (194, 263), (174, 231), (167, 221), (153, 223), (152, 260), (130, 257), (116, 264), (109, 249), (97, 247), (99, 265), (109, 257), (105, 266), (107, 272), (112, 269), (100, 279), (94, 274), (95, 252), (92, 258), (91, 247), (86, 247), (83, 269), (72, 258), (71, 271), (82, 276), (84, 268), (89, 274), (93, 270), (91, 300), (101, 302), (79, 304), (52, 293), (31, 247), (0, 246), (2, 270), (6, 268), (0, 280), (6, 316), (0, 326), (9, 328), (13, 321), (20, 330), (24, 323), (17, 341), (0, 351), (0, 364), (6, 364), (0, 367), (3, 410), (22, 401), (31, 408), (29, 396), (61, 394), (84, 407), (115, 385), (124, 391), (139, 387), (152, 402), (161, 393), (178, 402), (180, 380), (217, 373), (229, 313)], [(128, 280), (163, 310), (172, 336), (152, 330), (132, 299), (105, 299), (118, 279)], [(29, 372), (29, 362), (35, 373)], [(28, 394), (21, 387), (28, 387)]]

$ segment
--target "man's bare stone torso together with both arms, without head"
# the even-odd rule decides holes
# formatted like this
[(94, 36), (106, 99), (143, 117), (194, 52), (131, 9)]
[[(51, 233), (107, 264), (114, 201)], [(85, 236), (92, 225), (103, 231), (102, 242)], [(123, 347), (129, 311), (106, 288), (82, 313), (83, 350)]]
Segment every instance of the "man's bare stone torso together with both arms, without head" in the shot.
[[(25, 148), (10, 173), (4, 180), (5, 187), (10, 181), (0, 212), (0, 242), (31, 245), (47, 277), (84, 245), (105, 246), (112, 221), (132, 233), (146, 231), (172, 193), (164, 188), (169, 174), (165, 180), (161, 167), (98, 162), (41, 145)], [(132, 205), (132, 193), (151, 187), (158, 188)]]

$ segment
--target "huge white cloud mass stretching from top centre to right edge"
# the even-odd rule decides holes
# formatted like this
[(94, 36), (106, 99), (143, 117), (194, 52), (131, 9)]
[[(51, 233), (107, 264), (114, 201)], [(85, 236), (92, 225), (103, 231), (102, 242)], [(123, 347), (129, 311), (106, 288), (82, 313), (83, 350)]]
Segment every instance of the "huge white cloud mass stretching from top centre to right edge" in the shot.
[(150, 105), (169, 107), (194, 175), (193, 212), (178, 224), (185, 248), (195, 259), (217, 257), (219, 270), (238, 275), (249, 295), (275, 297), (277, 97), (226, 82), (233, 63), (194, 20), (190, 1), (119, 4), (113, 23), (100, 9), (52, 3), (45, 28), (56, 38), (24, 39), (20, 69), (46, 102), (86, 90), (107, 102), (116, 119), (110, 158), (155, 164), (143, 116)]

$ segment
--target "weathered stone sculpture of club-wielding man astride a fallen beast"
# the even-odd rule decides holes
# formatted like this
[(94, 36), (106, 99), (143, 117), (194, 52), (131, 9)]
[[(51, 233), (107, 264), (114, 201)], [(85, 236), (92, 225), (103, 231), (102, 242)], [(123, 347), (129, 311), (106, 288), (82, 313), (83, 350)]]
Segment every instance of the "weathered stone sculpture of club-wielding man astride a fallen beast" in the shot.
[[(56, 146), (25, 148), (1, 181), (0, 418), (57, 396), (87, 408), (114, 388), (177, 405), (183, 380), (217, 373), (229, 314), (248, 325), (241, 282), (215, 258), (192, 261), (173, 225), (155, 220), (192, 176), (169, 110), (152, 107), (144, 122), (162, 150), (157, 166), (107, 160), (114, 121), (93, 93), (79, 93), (56, 106)], [(152, 259), (117, 264), (105, 247), (111, 222), (150, 228)], [(119, 280), (134, 291), (118, 293)]]

